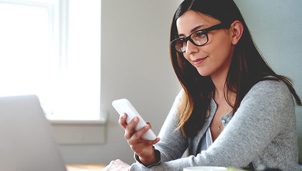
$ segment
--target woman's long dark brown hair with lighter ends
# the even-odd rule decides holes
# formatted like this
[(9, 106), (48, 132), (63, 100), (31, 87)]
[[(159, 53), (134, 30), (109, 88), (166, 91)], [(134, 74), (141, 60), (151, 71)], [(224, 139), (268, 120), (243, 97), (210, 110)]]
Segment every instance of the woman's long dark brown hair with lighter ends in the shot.
[[(233, 108), (233, 115), (248, 91), (261, 80), (284, 81), (296, 104), (301, 106), (301, 100), (293, 89), (291, 80), (276, 74), (262, 58), (233, 0), (185, 0), (174, 14), (171, 25), (171, 41), (178, 38), (176, 20), (189, 10), (211, 16), (221, 23), (231, 25), (234, 21), (239, 20), (243, 24), (244, 31), (235, 46), (224, 86), (236, 94), (234, 105), (229, 102), (228, 95), (224, 95), (226, 102)], [(184, 58), (183, 54), (171, 46), (170, 54), (174, 71), (185, 92), (178, 106), (178, 129), (182, 129), (184, 136), (194, 137), (208, 117), (206, 113), (209, 110), (215, 87), (210, 76), (201, 76), (196, 68)], [(268, 75), (271, 76), (266, 77)]]

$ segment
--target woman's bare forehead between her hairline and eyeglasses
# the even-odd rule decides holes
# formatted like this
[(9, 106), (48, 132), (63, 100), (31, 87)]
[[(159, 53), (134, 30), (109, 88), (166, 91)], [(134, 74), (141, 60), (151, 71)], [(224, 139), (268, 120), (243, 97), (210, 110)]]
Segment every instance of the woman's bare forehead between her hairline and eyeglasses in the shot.
[(188, 36), (191, 30), (201, 26), (199, 29), (208, 28), (220, 23), (219, 20), (199, 12), (189, 10), (176, 20), (178, 34)]

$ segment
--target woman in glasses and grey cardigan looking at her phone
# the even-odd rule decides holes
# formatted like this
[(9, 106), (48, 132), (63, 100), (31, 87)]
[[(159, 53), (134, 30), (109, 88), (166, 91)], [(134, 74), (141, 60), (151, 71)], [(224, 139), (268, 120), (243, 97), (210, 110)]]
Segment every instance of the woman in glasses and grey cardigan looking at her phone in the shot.
[[(119, 119), (135, 152), (131, 166), (112, 161), (104, 170), (182, 170), (187, 166), (298, 165), (294, 102), (289, 79), (263, 60), (232, 0), (185, 0), (171, 26), (171, 61), (183, 87), (159, 138), (142, 141)], [(189, 157), (180, 158), (189, 148)]]

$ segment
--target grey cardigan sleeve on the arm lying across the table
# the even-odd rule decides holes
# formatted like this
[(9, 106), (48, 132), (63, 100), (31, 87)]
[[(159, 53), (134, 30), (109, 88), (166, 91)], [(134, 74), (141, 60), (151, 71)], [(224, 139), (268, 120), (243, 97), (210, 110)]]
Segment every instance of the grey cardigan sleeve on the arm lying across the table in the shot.
[[(291, 108), (294, 108), (293, 100), (284, 82), (260, 81), (244, 97), (229, 124), (207, 150), (196, 156), (162, 162), (149, 168), (134, 163), (130, 170), (172, 171), (197, 165), (245, 167), (286, 127), (286, 117), (293, 116), (284, 113), (292, 110)], [(164, 140), (171, 138), (169, 134), (162, 136)], [(170, 146), (178, 146), (177, 142), (168, 142), (171, 144), (161, 146), (169, 146), (165, 151), (175, 150)], [(173, 152), (169, 154), (171, 153)], [(177, 155), (172, 156), (169, 158), (175, 158)]]

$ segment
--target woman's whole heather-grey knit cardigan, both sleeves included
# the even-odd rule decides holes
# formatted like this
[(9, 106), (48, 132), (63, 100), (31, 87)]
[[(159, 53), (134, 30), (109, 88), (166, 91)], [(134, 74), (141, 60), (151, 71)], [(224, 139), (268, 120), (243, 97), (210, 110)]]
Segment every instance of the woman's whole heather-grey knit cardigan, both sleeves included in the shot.
[[(188, 141), (181, 130), (175, 130), (182, 92), (176, 97), (160, 131), (160, 142), (155, 145), (160, 154), (159, 162), (144, 166), (137, 161), (130, 171), (176, 171), (206, 165), (246, 167), (250, 163), (256, 169), (266, 165), (283, 171), (302, 170), (298, 165), (294, 102), (284, 82), (264, 80), (256, 83), (221, 134), (201, 152), (198, 145), (213, 119), (216, 104), (211, 101), (209, 118), (197, 136)], [(193, 155), (180, 158), (188, 147)]]

